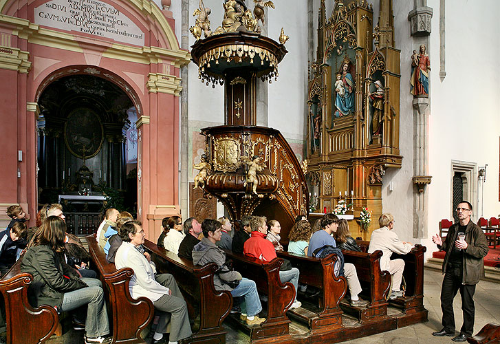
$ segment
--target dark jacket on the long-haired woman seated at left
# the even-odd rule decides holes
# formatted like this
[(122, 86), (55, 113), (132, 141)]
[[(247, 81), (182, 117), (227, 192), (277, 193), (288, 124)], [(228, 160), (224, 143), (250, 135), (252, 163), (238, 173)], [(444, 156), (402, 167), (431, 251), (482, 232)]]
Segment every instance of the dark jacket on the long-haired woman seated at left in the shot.
[(21, 272), (33, 275), (28, 288), (28, 300), (33, 307), (61, 307), (63, 294), (87, 287), (76, 271), (64, 262), (48, 245), (32, 246), (21, 262)]

